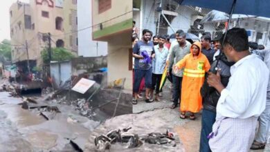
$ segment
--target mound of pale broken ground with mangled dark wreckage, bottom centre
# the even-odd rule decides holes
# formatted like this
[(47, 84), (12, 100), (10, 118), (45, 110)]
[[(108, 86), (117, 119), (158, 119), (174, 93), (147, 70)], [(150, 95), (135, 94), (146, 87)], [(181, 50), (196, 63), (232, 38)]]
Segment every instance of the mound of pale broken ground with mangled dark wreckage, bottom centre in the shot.
[[(185, 151), (180, 142), (179, 134), (174, 129), (173, 123), (178, 122), (179, 119), (176, 120), (172, 115), (177, 115), (177, 113), (178, 111), (165, 108), (113, 117), (91, 131), (89, 142), (84, 151)], [(117, 131), (114, 129), (127, 129), (129, 127), (132, 129), (127, 133), (120, 133), (124, 142), (113, 144), (107, 137), (110, 130)], [(166, 131), (166, 129), (170, 131)], [(164, 131), (166, 132), (164, 133)], [(100, 137), (99, 144), (95, 144), (95, 139), (98, 141), (96, 137)]]

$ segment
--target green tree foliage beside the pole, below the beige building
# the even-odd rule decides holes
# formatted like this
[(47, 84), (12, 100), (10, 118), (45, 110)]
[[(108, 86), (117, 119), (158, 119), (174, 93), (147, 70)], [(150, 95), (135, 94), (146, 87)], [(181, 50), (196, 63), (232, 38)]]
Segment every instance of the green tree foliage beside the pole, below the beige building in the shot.
[[(52, 48), (51, 61), (64, 61), (70, 60), (75, 57), (69, 50), (65, 48)], [(42, 50), (42, 59), (45, 64), (48, 64), (48, 48)]]

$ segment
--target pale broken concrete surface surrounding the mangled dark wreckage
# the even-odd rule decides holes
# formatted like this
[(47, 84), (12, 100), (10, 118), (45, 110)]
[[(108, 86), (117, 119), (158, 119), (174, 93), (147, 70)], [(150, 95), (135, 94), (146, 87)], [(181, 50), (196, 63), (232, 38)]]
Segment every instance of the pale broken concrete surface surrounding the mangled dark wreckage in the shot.
[(132, 127), (132, 129), (129, 130), (129, 133), (138, 135), (152, 132), (165, 133), (166, 129), (168, 129), (169, 131), (174, 133), (177, 146), (174, 147), (145, 143), (138, 148), (127, 149), (126, 145), (116, 144), (111, 145), (110, 151), (184, 151), (183, 145), (179, 140), (179, 136), (174, 131), (174, 126), (168, 125), (172, 124), (172, 122), (176, 122), (177, 120), (167, 119), (168, 115), (164, 115), (164, 113), (176, 114), (170, 109), (161, 109), (141, 114), (120, 115), (118, 117), (111, 118), (110, 120), (107, 120), (104, 124), (98, 126), (97, 129), (91, 132), (87, 146), (85, 147), (84, 151), (96, 151), (94, 140), (95, 137), (97, 137), (98, 135), (105, 134), (110, 130), (124, 129), (127, 127)]

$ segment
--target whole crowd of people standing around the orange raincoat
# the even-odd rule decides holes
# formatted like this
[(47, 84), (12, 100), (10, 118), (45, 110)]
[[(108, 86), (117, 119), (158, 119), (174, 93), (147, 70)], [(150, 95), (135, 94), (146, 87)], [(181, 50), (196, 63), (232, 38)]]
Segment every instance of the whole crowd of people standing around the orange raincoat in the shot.
[(180, 105), (179, 117), (195, 120), (201, 111), (199, 151), (264, 149), (270, 127), (269, 50), (249, 42), (244, 28), (213, 39), (206, 32), (194, 43), (183, 30), (171, 43), (147, 29), (142, 34), (132, 37), (133, 104), (143, 98), (143, 88), (145, 102), (160, 101), (165, 73), (173, 88), (171, 108)]

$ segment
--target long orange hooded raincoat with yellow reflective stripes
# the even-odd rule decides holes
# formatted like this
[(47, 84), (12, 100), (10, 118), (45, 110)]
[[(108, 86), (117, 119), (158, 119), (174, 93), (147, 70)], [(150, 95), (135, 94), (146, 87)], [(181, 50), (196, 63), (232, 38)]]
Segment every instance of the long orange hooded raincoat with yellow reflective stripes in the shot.
[[(192, 46), (199, 47), (199, 55), (193, 57)], [(210, 64), (205, 55), (201, 53), (201, 44), (196, 41), (190, 47), (190, 54), (186, 55), (175, 66), (184, 67), (181, 89), (180, 111), (198, 113), (202, 108), (201, 86), (204, 84), (204, 75), (210, 69)]]

